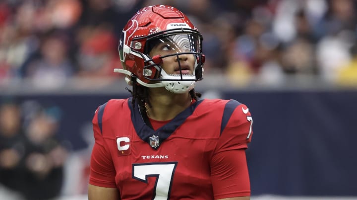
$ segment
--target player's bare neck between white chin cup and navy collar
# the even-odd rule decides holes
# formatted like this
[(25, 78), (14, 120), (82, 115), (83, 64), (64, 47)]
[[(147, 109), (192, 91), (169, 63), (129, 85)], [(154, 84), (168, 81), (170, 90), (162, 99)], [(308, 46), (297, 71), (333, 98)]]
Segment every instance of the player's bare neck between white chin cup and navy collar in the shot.
[(146, 106), (148, 117), (153, 120), (172, 120), (191, 104), (189, 93), (149, 92), (150, 106)]

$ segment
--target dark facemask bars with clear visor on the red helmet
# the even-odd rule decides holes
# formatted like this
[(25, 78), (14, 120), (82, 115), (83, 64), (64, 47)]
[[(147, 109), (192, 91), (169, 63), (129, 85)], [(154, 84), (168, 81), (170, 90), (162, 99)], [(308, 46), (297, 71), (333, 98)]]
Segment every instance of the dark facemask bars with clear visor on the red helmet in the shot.
[[(146, 41), (144, 54), (150, 59), (144, 62), (143, 75), (152, 83), (160, 82), (167, 90), (185, 93), (193, 89), (197, 80), (202, 80), (202, 37), (198, 32), (173, 31), (151, 36)], [(161, 54), (152, 50), (161, 49)], [(168, 73), (162, 68), (165, 58), (173, 57), (178, 63), (175, 73)], [(189, 62), (184, 61), (186, 58)], [(172, 59), (172, 58), (171, 58)], [(192, 66), (193, 65), (193, 69)], [(153, 67), (155, 70), (152, 70)], [(155, 75), (153, 76), (153, 72)]]

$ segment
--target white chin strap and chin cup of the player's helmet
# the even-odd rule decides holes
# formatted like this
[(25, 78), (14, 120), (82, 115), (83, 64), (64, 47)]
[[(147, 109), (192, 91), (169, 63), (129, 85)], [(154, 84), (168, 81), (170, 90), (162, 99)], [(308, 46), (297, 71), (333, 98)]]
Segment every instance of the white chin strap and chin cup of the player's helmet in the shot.
[[(131, 72), (124, 69), (114, 69), (114, 72), (125, 74), (131, 76)], [(165, 71), (161, 72), (162, 79), (173, 79), (173, 80), (162, 80), (158, 83), (145, 83), (140, 79), (136, 79), (136, 81), (145, 86), (145, 87), (165, 87), (167, 90), (173, 93), (185, 93), (193, 89), (195, 85), (195, 76), (194, 75), (182, 75), (182, 80), (175, 80), (180, 78), (180, 75), (168, 75)], [(125, 81), (128, 85), (132, 85), (130, 79), (125, 77)]]

